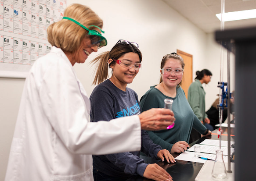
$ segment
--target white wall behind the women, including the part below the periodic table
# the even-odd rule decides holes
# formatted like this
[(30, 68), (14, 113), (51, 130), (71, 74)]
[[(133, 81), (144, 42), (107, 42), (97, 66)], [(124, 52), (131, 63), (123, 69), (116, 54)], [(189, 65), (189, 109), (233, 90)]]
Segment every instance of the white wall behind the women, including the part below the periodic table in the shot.
[[(177, 49), (193, 55), (193, 72), (209, 69), (212, 82), (205, 87), (206, 109), (216, 99), (219, 89), (220, 46), (213, 35), (206, 35), (161, 0), (67, 0), (91, 7), (104, 21), (108, 46), (98, 53), (111, 50), (119, 39), (137, 42), (143, 55), (142, 68), (129, 85), (139, 98), (150, 85), (159, 82), (162, 57)], [(94, 86), (94, 67), (89, 64), (98, 53), (92, 53), (84, 64), (76, 64), (76, 73), (90, 95)], [(224, 69), (226, 70), (226, 69)], [(233, 76), (234, 77), (234, 76)], [(195, 78), (195, 77), (194, 77)], [(0, 78), (0, 181), (4, 180), (11, 140), (21, 99), (24, 79)]]

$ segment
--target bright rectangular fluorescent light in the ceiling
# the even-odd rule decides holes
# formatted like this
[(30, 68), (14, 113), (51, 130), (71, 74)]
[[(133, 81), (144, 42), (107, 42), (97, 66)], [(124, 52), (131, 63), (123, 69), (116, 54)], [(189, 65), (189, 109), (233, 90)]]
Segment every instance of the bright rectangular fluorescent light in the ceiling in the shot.
[[(221, 21), (221, 13), (216, 14), (216, 17), (219, 18), (219, 20)], [(242, 19), (256, 18), (256, 9), (224, 13), (222, 18), (223, 21), (236, 21)]]

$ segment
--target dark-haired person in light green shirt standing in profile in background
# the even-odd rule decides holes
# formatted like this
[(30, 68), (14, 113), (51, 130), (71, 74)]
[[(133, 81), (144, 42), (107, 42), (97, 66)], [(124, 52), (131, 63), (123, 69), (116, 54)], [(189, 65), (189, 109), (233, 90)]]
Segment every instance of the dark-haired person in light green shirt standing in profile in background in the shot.
[[(195, 115), (201, 121), (202, 124), (205, 123), (206, 128), (208, 128), (208, 124), (210, 123), (209, 118), (206, 115), (206, 103), (205, 103), (205, 95), (206, 92), (202, 87), (202, 84), (208, 84), (211, 81), (212, 73), (203, 69), (202, 71), (196, 71), (195, 82), (192, 82), (188, 88), (187, 92), (187, 100)], [(208, 128), (209, 129), (209, 128)], [(198, 131), (192, 129), (190, 142), (194, 142), (195, 140), (201, 138)]]

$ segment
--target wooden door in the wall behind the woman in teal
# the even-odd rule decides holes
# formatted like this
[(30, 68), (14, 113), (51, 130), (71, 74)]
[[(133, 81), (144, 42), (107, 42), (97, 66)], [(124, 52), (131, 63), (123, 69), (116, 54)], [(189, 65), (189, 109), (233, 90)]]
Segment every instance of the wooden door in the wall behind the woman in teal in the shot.
[(177, 50), (177, 54), (183, 58), (185, 64), (181, 88), (187, 97), (189, 85), (193, 82), (193, 56), (180, 50)]

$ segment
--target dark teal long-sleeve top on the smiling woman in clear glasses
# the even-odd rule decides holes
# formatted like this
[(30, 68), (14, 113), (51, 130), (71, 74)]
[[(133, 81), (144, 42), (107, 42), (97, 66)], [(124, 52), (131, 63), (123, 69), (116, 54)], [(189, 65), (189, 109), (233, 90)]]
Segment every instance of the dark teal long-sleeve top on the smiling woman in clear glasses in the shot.
[(163, 108), (164, 99), (173, 99), (172, 110), (176, 119), (172, 129), (148, 131), (149, 137), (155, 144), (160, 145), (162, 149), (171, 151), (174, 143), (178, 141), (189, 142), (192, 127), (201, 134), (206, 132), (206, 127), (195, 116), (181, 87), (177, 89), (177, 95), (173, 98), (164, 95), (154, 86), (150, 88), (151, 89), (141, 97), (140, 104), (142, 112), (151, 108)]

